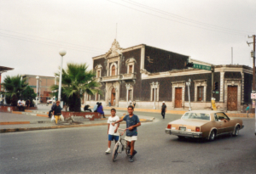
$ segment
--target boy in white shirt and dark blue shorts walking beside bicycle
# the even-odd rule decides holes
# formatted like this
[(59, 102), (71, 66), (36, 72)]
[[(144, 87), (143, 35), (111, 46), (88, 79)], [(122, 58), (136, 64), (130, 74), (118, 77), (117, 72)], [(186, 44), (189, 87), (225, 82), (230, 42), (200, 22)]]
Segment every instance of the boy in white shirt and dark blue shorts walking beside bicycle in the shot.
[(111, 124), (115, 121), (119, 121), (119, 116), (115, 115), (116, 110), (111, 109), (111, 116), (108, 117), (108, 149), (106, 151), (107, 154), (111, 153), (110, 146), (111, 146), (111, 141), (119, 141), (119, 134), (117, 132), (119, 128), (119, 123), (115, 124), (114, 126)]

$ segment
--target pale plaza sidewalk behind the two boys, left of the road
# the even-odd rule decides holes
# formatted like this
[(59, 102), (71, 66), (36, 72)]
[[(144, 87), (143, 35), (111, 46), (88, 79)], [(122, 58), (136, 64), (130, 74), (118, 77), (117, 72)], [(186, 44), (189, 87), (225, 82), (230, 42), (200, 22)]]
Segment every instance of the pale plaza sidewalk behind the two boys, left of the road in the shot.
[[(50, 107), (49, 107), (50, 108)], [(101, 119), (98, 121), (75, 121), (72, 124), (65, 121), (59, 121), (58, 125), (55, 125), (55, 121), (52, 122), (48, 118), (47, 112), (48, 107), (42, 106), (38, 107), (38, 113), (24, 113), (24, 112), (14, 112), (14, 113), (4, 113), (0, 112), (0, 133), (3, 132), (24, 132), (24, 131), (34, 131), (34, 130), (45, 130), (45, 129), (58, 129), (58, 128), (69, 128), (69, 127), (83, 127), (83, 126), (102, 126), (108, 125), (108, 118)], [(122, 116), (125, 112), (117, 111), (119, 116)], [(105, 115), (108, 117), (110, 115), (110, 110), (105, 109)], [(154, 117), (140, 115), (141, 122), (153, 121)], [(122, 122), (121, 124), (125, 124)]]

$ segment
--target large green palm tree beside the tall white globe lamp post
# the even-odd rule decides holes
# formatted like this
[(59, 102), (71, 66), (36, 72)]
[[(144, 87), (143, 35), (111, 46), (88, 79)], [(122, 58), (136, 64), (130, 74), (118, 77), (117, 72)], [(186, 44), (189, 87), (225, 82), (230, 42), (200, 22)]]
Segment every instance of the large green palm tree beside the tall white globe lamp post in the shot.
[[(69, 106), (69, 111), (81, 111), (81, 98), (84, 93), (93, 95), (102, 94), (99, 87), (101, 84), (95, 80), (95, 72), (87, 70), (86, 64), (67, 64), (67, 70), (62, 70), (61, 99)], [(60, 73), (55, 73), (60, 76)], [(51, 90), (58, 90), (59, 86), (54, 85)]]

